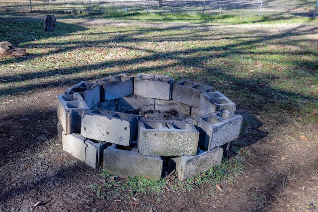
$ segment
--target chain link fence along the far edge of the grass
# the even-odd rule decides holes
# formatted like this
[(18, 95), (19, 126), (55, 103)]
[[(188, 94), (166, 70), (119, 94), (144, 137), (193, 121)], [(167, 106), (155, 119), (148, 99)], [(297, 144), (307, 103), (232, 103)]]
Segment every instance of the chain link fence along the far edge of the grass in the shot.
[[(318, 0), (0, 0), (0, 13), (171, 12), (208, 15), (317, 17)], [(72, 11), (66, 11), (72, 10)]]

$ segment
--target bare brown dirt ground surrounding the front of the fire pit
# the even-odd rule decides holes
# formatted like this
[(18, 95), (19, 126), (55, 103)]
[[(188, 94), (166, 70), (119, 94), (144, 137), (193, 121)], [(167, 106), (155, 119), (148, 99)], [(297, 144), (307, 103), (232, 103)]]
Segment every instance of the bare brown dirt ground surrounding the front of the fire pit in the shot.
[(318, 204), (317, 140), (311, 139), (318, 126), (273, 125), (256, 118), (254, 106), (239, 105), (247, 124), (233, 148), (241, 148), (236, 157), (245, 169), (232, 183), (221, 184), (222, 191), (203, 184), (183, 193), (98, 198), (90, 185), (104, 181), (101, 170), (64, 152), (57, 139), (56, 95), (67, 88), (35, 89), (0, 105), (0, 212), (299, 212)]

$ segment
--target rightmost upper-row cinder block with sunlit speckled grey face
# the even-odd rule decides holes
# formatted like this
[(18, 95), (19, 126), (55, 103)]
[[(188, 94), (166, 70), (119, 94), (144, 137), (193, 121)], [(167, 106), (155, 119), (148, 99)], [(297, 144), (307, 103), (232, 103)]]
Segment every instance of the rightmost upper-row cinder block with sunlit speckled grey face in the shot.
[(198, 117), (194, 125), (200, 132), (199, 145), (213, 149), (239, 137), (243, 117), (222, 110)]

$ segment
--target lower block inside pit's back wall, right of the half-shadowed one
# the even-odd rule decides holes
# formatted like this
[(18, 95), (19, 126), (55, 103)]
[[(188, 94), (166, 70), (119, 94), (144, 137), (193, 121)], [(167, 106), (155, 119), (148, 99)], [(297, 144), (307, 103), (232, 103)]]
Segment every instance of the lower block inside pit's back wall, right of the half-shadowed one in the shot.
[(190, 115), (190, 106), (174, 100), (155, 100), (155, 109), (161, 111), (176, 110), (185, 115)]

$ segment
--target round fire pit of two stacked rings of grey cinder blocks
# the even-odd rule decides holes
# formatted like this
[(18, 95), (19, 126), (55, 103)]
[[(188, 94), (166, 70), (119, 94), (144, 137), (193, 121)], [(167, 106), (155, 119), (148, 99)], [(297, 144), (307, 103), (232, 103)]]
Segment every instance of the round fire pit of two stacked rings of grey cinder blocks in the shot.
[(242, 116), (214, 88), (162, 75), (120, 74), (80, 82), (58, 95), (63, 150), (122, 178), (184, 180), (221, 163)]

